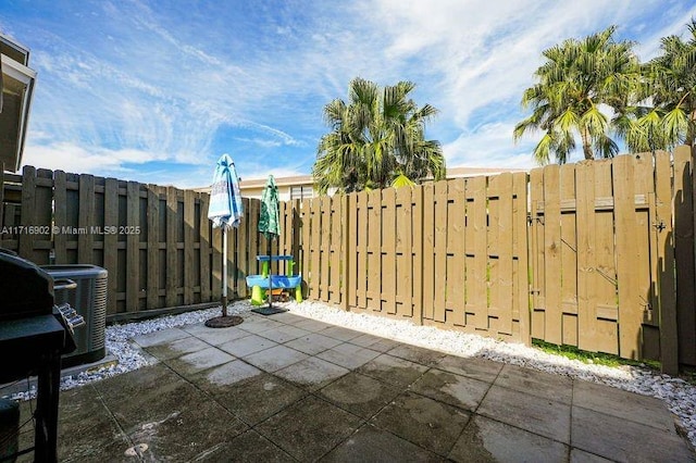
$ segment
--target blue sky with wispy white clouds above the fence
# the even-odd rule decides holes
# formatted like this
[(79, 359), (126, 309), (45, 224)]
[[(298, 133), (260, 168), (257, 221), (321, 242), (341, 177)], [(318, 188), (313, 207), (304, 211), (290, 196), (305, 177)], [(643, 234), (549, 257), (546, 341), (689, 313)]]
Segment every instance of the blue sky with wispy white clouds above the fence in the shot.
[(414, 82), (449, 167), (532, 167), (512, 128), (544, 49), (616, 24), (648, 60), (692, 16), (691, 0), (2, 0), (0, 32), (38, 72), (24, 164), (186, 188), (225, 152), (243, 179), (311, 173), (322, 109), (356, 76)]

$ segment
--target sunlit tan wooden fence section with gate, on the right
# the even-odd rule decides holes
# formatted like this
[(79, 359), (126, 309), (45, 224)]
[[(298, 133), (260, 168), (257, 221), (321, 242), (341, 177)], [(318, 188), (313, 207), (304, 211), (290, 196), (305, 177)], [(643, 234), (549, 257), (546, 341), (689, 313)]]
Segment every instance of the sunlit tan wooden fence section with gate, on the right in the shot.
[(696, 365), (692, 162), (680, 147), (318, 198), (286, 239), (311, 299), (674, 372)]

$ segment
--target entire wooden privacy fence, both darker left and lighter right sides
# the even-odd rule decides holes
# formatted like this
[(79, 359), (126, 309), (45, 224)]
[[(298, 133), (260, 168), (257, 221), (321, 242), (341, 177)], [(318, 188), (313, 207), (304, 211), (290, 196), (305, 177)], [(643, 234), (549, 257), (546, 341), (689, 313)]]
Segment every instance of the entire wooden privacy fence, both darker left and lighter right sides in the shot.
[[(680, 147), (284, 202), (272, 252), (295, 255), (308, 298), (344, 310), (674, 372), (696, 366), (692, 164)], [(105, 267), (110, 316), (220, 299), (208, 195), (34, 167), (3, 182), (1, 246)], [(228, 234), (228, 284), (241, 298), (269, 250), (259, 200), (244, 203)]]

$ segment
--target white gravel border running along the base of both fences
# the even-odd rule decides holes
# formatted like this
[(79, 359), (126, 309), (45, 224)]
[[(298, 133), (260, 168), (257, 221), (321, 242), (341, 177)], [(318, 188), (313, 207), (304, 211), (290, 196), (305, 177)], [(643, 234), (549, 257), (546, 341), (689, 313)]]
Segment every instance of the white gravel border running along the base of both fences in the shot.
[[(376, 315), (357, 314), (327, 306), (314, 301), (302, 303), (277, 302), (277, 305), (289, 309), (296, 315), (307, 316), (346, 328), (370, 333), (401, 342), (408, 342), (428, 349), (438, 350), (460, 356), (478, 356), (497, 362), (505, 362), (524, 367), (535, 368), (573, 378), (601, 383), (616, 388), (652, 396), (667, 402), (688, 435), (692, 445), (696, 446), (696, 387), (687, 381), (657, 374), (637, 366), (610, 367), (584, 363), (566, 356), (546, 353), (534, 347), (521, 343), (504, 342), (477, 335), (450, 331), (428, 326), (418, 326), (407, 320), (391, 320)], [(241, 315), (252, 309), (248, 300), (236, 301), (227, 308), (228, 314)], [(61, 389), (70, 389), (89, 381), (99, 380), (130, 372), (149, 364), (149, 358), (142, 355), (139, 348), (129, 339), (161, 329), (201, 323), (221, 313), (221, 308), (189, 312), (181, 315), (164, 316), (145, 322), (112, 325), (107, 327), (107, 350), (117, 359), (117, 363), (99, 371), (80, 373), (65, 377)], [(26, 399), (34, 391), (15, 395)]]

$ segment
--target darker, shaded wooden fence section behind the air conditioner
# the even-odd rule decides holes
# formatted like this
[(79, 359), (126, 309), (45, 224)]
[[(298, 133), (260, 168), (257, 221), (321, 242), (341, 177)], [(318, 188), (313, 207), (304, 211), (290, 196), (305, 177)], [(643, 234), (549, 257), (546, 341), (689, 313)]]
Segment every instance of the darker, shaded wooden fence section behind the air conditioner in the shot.
[[(107, 313), (121, 315), (220, 301), (222, 233), (207, 193), (62, 171), (0, 178), (0, 246), (41, 264), (95, 264), (109, 272)], [(227, 234), (231, 296), (247, 296), (266, 241), (258, 200)]]

